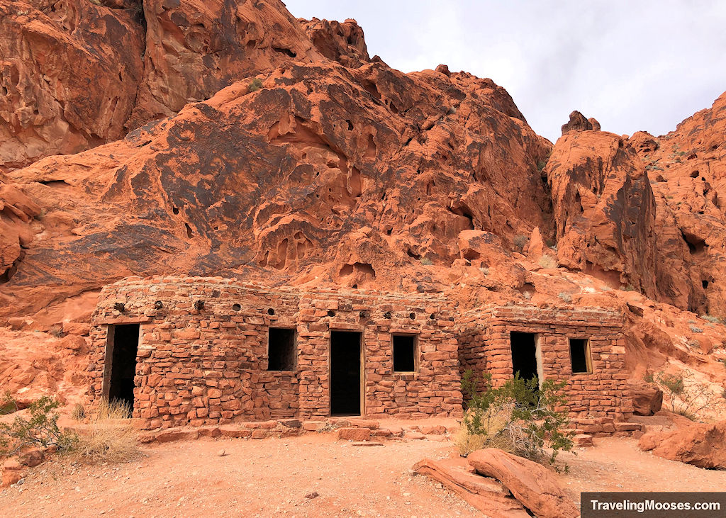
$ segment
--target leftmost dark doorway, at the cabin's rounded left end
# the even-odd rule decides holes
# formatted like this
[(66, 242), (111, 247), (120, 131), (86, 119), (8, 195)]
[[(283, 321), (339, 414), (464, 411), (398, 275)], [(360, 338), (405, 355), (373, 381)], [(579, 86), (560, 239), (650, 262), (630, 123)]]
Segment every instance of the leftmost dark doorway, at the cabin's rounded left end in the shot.
[[(120, 400), (134, 408), (134, 376), (136, 376), (136, 350), (139, 348), (139, 324), (110, 326), (108, 330), (111, 363), (108, 382), (108, 400)], [(106, 359), (108, 362), (108, 358)]]

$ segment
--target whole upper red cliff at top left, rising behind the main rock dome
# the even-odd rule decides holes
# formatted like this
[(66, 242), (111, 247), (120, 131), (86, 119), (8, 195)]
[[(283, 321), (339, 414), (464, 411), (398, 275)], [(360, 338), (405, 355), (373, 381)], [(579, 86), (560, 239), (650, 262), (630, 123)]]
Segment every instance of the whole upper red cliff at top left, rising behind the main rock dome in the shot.
[[(279, 0), (12, 0), (0, 19), (0, 171), (121, 139), (240, 78), (325, 59)], [(355, 22), (318, 22), (319, 37), (338, 38), (338, 59), (367, 61)]]

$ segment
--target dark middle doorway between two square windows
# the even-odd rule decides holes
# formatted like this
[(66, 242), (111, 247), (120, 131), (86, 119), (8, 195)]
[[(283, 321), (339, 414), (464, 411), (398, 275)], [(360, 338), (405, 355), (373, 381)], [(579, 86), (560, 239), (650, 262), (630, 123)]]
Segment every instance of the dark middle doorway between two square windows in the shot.
[(361, 334), (330, 332), (330, 415), (361, 415)]

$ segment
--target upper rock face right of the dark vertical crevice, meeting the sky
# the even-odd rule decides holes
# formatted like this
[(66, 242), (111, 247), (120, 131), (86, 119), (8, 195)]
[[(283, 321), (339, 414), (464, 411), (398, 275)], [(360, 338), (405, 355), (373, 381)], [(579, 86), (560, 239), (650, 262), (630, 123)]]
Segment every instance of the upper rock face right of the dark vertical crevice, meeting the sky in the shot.
[(322, 59), (279, 0), (147, 0), (144, 19), (144, 79), (129, 129), (175, 115), (240, 78)]

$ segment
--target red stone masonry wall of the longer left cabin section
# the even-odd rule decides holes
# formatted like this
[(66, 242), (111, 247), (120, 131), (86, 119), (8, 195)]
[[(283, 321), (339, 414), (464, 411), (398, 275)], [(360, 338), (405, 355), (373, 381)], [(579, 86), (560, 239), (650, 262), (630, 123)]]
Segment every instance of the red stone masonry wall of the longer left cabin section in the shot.
[[(149, 429), (329, 416), (336, 329), (362, 333), (365, 416), (461, 414), (454, 318), (442, 298), (131, 277), (102, 290), (93, 321), (89, 403), (105, 393), (109, 326), (139, 323), (134, 417)], [(270, 326), (295, 329), (293, 371), (266, 370)], [(392, 332), (417, 335), (417, 372), (393, 372)]]

